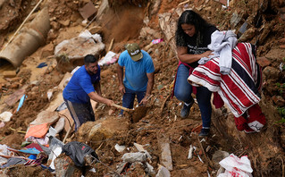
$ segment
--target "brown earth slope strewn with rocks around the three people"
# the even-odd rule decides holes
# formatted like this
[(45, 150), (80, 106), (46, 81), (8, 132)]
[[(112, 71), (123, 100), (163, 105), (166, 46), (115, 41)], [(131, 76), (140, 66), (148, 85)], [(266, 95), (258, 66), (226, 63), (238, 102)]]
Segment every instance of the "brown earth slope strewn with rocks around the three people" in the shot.
[[(247, 155), (254, 168), (254, 176), (284, 175), (285, 3), (282, 0), (231, 0), (229, 7), (222, 7), (224, 2), (222, 0), (220, 2), (214, 0), (185, 2), (180, 0), (102, 0), (92, 2), (96, 7), (96, 19), (92, 21), (94, 16), (91, 16), (87, 22), (84, 22), (79, 10), (88, 1), (43, 1), (36, 12), (48, 5), (51, 30), (48, 31), (46, 45), (27, 56), (17, 70), (11, 64), (1, 60), (0, 70), (3, 74), (0, 75), (0, 111), (1, 113), (4, 111), (13, 113), (12, 120), (5, 122), (4, 127), (0, 128), (1, 144), (20, 149), (21, 143), (25, 140), (25, 134), (21, 131), (27, 131), (29, 122), (35, 120), (43, 110), (53, 107), (51, 103), (54, 103), (57, 97), (61, 97), (62, 89), (58, 87), (59, 84), (65, 73), (71, 72), (80, 64), (80, 61), (63, 63), (61, 58), (54, 57), (54, 47), (64, 39), (78, 37), (82, 30), (88, 29), (93, 34), (101, 35), (102, 42), (105, 44), (102, 56), (105, 56), (108, 49), (120, 54), (124, 50), (123, 46), (130, 42), (137, 42), (139, 46), (147, 50), (155, 63), (155, 87), (153, 97), (146, 107), (138, 107), (134, 113), (126, 113), (123, 118), (118, 119), (118, 109), (96, 105), (96, 122), (88, 122), (82, 125), (77, 133), (71, 133), (67, 142), (76, 140), (86, 143), (96, 150), (100, 158), (100, 163), (93, 164), (96, 173), (88, 172), (86, 176), (114, 176), (115, 172), (118, 172), (118, 166), (122, 164), (122, 155), (138, 152), (134, 143), (143, 145), (152, 156), (152, 159), (147, 162), (154, 167), (155, 173), (157, 173), (159, 164), (163, 164), (164, 148), (162, 145), (167, 143), (172, 153), (172, 176), (207, 176), (208, 173), (216, 176), (219, 161), (215, 156), (221, 150), (236, 156)], [(106, 2), (109, 6), (102, 11), (102, 6)], [(0, 1), (0, 44), (2, 48), (36, 4), (38, 1), (33, 0)], [(172, 40), (165, 38), (163, 29), (159, 25), (159, 16), (163, 13), (172, 13), (172, 20), (175, 20), (178, 18), (176, 10), (186, 8), (193, 8), (207, 21), (216, 25), (219, 30), (236, 30), (240, 41), (258, 45), (257, 61), (263, 67), (264, 74), (264, 89), (260, 105), (268, 122), (261, 133), (268, 135), (267, 137), (258, 134), (248, 135), (254, 143), (248, 142), (247, 144), (247, 141), (240, 138), (247, 135), (243, 132), (231, 131), (239, 138), (229, 133), (230, 136), (225, 139), (221, 132), (229, 131), (226, 131), (226, 127), (223, 130), (214, 124), (211, 136), (201, 143), (195, 133), (201, 125), (197, 104), (191, 109), (189, 119), (180, 118), (180, 101), (175, 97), (171, 98), (172, 82), (178, 61), (171, 45)], [(32, 17), (33, 15), (30, 20)], [(240, 29), (245, 22), (247, 22), (247, 30), (242, 34)], [(164, 38), (164, 41), (147, 48), (147, 45), (155, 38)], [(43, 62), (47, 63), (46, 67), (36, 68), (38, 63)], [(122, 95), (118, 90), (115, 70), (115, 63), (102, 67), (101, 86), (105, 97), (121, 105)], [(4, 75), (6, 71), (13, 71), (15, 74), (8, 77)], [(5, 100), (23, 88), (28, 97), (19, 112), (16, 112), (18, 102), (7, 105)], [(49, 100), (46, 95), (51, 89), (53, 97)], [(222, 117), (213, 115), (213, 117), (225, 120), (227, 115), (222, 115)], [(96, 131), (96, 135), (90, 134), (90, 130), (96, 124), (100, 124), (102, 130)], [(66, 130), (62, 131), (58, 139), (63, 140), (65, 134)], [(254, 139), (264, 144), (267, 139), (273, 139), (272, 142), (276, 144), (272, 145), (272, 148), (260, 148), (263, 152), (258, 151), (258, 153), (263, 156), (257, 158), (251, 153), (250, 148), (259, 149), (262, 143), (256, 143)], [(115, 149), (116, 144), (127, 148), (120, 153)], [(188, 159), (190, 145), (197, 147), (197, 154), (192, 159)], [(198, 159), (197, 155), (201, 156), (204, 163)], [(262, 170), (261, 167), (265, 168)], [(133, 164), (127, 169), (129, 171), (122, 175), (155, 176), (155, 173), (147, 173), (142, 164)], [(41, 167), (23, 165), (5, 169), (2, 173), (8, 176), (54, 175), (42, 170)], [(80, 175), (79, 169), (74, 173), (74, 176), (77, 175)]]

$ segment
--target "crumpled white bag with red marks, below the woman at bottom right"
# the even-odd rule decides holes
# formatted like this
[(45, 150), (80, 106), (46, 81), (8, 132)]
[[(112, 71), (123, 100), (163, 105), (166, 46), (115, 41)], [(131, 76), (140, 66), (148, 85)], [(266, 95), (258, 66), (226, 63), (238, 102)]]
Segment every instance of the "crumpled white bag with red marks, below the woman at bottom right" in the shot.
[(250, 161), (247, 156), (235, 156), (231, 154), (230, 156), (222, 159), (219, 163), (223, 168), (225, 168), (225, 172), (218, 175), (218, 177), (252, 177), (252, 168), (250, 165)]

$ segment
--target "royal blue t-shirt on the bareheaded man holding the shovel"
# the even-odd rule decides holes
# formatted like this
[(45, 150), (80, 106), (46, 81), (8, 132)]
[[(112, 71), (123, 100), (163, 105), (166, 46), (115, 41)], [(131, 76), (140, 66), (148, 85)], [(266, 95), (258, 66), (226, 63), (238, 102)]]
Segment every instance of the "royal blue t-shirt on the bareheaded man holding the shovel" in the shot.
[(90, 75), (85, 66), (74, 72), (71, 80), (63, 89), (63, 97), (74, 103), (87, 104), (90, 101), (89, 93), (95, 91), (93, 84), (100, 80), (100, 67), (94, 75)]

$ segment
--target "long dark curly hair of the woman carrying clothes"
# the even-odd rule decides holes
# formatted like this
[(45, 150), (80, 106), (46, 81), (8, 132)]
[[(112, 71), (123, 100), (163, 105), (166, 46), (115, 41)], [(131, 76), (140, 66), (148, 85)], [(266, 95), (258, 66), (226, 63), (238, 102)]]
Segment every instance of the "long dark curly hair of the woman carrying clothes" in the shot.
[(198, 13), (195, 13), (192, 10), (184, 11), (177, 22), (177, 30), (175, 32), (176, 46), (187, 46), (186, 41), (190, 38), (189, 35), (182, 30), (181, 24), (195, 26), (197, 46), (203, 43), (203, 35), (201, 35), (201, 33), (206, 27), (211, 26), (211, 24), (207, 23)]

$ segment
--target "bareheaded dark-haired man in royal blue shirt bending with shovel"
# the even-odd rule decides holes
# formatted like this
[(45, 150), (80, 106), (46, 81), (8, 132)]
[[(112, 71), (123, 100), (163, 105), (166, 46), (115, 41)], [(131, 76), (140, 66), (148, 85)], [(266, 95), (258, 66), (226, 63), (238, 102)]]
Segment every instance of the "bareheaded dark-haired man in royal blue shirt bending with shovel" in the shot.
[(90, 99), (109, 106), (113, 104), (112, 100), (101, 95), (100, 71), (98, 57), (86, 55), (84, 65), (74, 72), (71, 80), (63, 89), (63, 99), (75, 122), (75, 131), (84, 122), (95, 121)]

